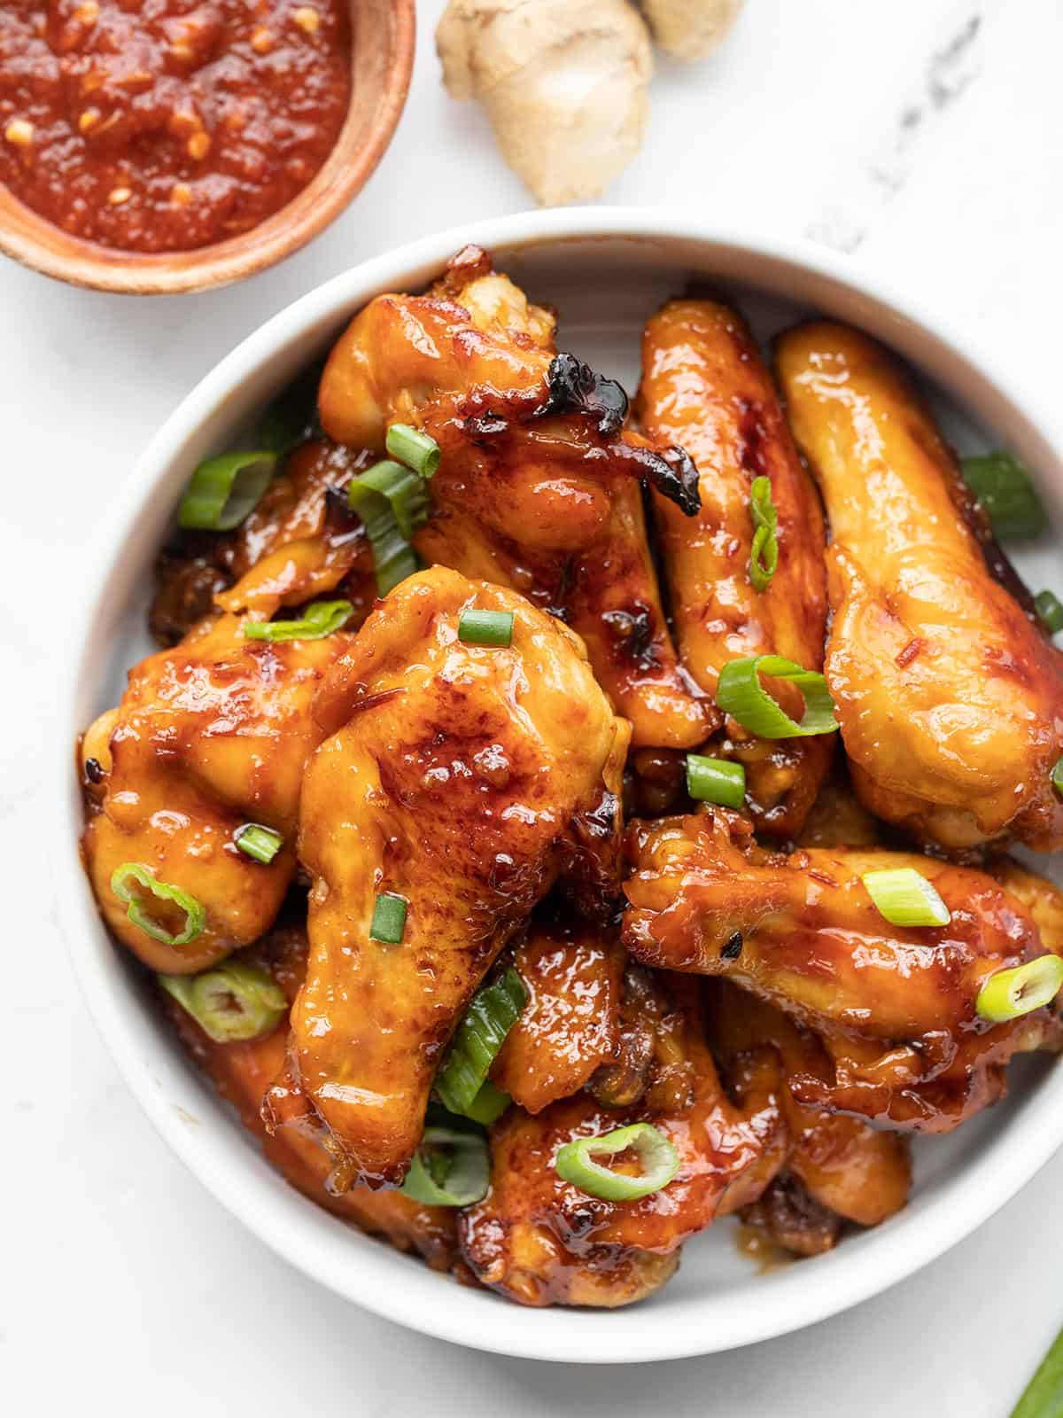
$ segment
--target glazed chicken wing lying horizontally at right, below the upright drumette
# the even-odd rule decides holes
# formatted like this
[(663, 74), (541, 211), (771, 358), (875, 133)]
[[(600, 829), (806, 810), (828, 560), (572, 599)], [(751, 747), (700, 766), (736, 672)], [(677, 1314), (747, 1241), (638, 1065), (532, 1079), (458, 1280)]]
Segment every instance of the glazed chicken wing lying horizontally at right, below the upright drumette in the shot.
[[(821, 1034), (835, 1076), (792, 1078), (798, 1102), (948, 1132), (1003, 1095), (1012, 1054), (1059, 1046), (1049, 1010), (998, 1025), (975, 1014), (989, 976), (1046, 951), (992, 876), (880, 848), (772, 856), (748, 831), (719, 810), (635, 830), (624, 940), (648, 964), (724, 976)], [(860, 881), (887, 866), (930, 879), (951, 923), (892, 926)]]

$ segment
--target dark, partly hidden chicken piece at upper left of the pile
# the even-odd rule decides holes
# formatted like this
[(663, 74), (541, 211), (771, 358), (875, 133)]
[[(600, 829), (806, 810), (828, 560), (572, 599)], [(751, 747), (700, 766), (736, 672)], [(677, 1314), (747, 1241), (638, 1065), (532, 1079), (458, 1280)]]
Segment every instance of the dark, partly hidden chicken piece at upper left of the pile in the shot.
[(308, 440), (234, 532), (179, 533), (157, 567), (154, 638), (174, 645), (215, 607), (268, 618), (329, 593), (353, 604), (349, 627), (360, 625), (376, 598), (373, 559), (343, 493), (374, 461), (364, 450)]

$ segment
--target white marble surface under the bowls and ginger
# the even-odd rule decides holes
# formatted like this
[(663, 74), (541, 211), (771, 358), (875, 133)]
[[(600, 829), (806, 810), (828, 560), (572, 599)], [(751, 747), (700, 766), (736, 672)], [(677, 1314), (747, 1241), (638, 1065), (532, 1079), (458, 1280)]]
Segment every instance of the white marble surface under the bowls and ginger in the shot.
[[(275, 1259), (154, 1137), (78, 997), (41, 798), (45, 760), (65, 752), (48, 727), (51, 628), (113, 489), (177, 400), (268, 315), (408, 237), (526, 204), (483, 121), (439, 88), (442, 0), (420, 9), (414, 89), (384, 166), (281, 269), (132, 302), (0, 268), (3, 1407), (1005, 1415), (1063, 1323), (1063, 1156), (921, 1275), (815, 1329), (669, 1367), (509, 1361), (377, 1320)], [(611, 196), (697, 203), (889, 267), (995, 343), (1052, 410), (1062, 51), (1059, 0), (748, 0), (719, 58), (660, 62), (649, 142)]]

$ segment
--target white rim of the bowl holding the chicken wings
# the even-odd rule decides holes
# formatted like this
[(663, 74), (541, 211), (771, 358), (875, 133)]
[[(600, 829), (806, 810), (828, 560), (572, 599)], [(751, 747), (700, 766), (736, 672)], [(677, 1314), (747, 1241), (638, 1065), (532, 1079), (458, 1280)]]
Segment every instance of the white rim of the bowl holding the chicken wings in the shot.
[[(86, 567), (84, 586), (69, 625), (68, 654), (62, 664), (57, 699), (57, 752), (48, 791), (50, 808), (64, 824), (64, 841), (52, 854), (55, 895), (60, 922), (67, 939), (78, 983), (89, 1014), (111, 1051), (126, 1085), (145, 1113), (186, 1166), (234, 1212), (261, 1241), (303, 1273), (325, 1283), (336, 1293), (411, 1329), (437, 1339), (516, 1357), (578, 1363), (642, 1363), (680, 1358), (737, 1349), (812, 1324), (839, 1313), (897, 1283), (930, 1261), (943, 1255), (1015, 1195), (1063, 1144), (1063, 1071), (1052, 1069), (1023, 1098), (1016, 1116), (1009, 1119), (1009, 1146), (981, 1146), (964, 1163), (962, 1171), (941, 1193), (918, 1207), (913, 1205), (874, 1231), (850, 1238), (833, 1254), (821, 1256), (814, 1266), (792, 1266), (767, 1276), (741, 1293), (709, 1293), (683, 1300), (682, 1313), (675, 1307), (660, 1310), (634, 1306), (628, 1310), (533, 1310), (500, 1302), (489, 1292), (454, 1286), (442, 1290), (445, 1280), (424, 1266), (405, 1266), (377, 1248), (351, 1256), (336, 1245), (334, 1232), (313, 1227), (299, 1218), (285, 1218), (274, 1205), (266, 1188), (248, 1181), (235, 1163), (235, 1151), (225, 1143), (215, 1146), (204, 1136), (208, 1130), (189, 1127), (164, 1098), (159, 1075), (163, 1064), (152, 1062), (157, 1041), (169, 1041), (150, 1024), (145, 1034), (143, 1011), (130, 1010), (115, 986), (115, 971), (108, 957), (95, 949), (94, 936), (102, 933), (91, 892), (88, 891), (78, 837), (81, 815), (72, 793), (69, 749), (71, 723), (79, 685), (91, 671), (92, 628), (103, 615), (113, 586), (125, 576), (122, 556), (135, 536), (139, 519), (156, 495), (156, 485), (170, 474), (174, 484), (174, 458), (208, 415), (225, 404), (245, 381), (291, 345), (300, 332), (332, 316), (339, 325), (351, 308), (381, 289), (401, 289), (418, 271), (441, 267), (461, 247), (476, 242), (490, 248), (522, 248), (558, 241), (689, 241), (700, 248), (700, 259), (713, 259), (726, 278), (729, 261), (750, 259), (775, 264), (823, 289), (866, 301), (872, 329), (901, 352), (918, 342), (917, 363), (938, 379), (944, 389), (968, 407), (978, 408), (989, 425), (1005, 421), (1012, 444), (1036, 468), (1050, 468), (1052, 481), (1063, 502), (1063, 461), (1045, 431), (1050, 420), (1015, 390), (1009, 372), (1001, 370), (995, 356), (977, 350), (971, 340), (940, 312), (927, 313), (923, 294), (920, 309), (889, 278), (872, 274), (865, 264), (805, 238), (767, 237), (740, 225), (723, 225), (697, 211), (652, 207), (570, 207), (519, 213), (489, 218), (424, 237), (387, 251), (333, 277), (266, 320), (244, 339), (187, 394), (150, 440), (130, 476), (120, 489), (108, 523), (94, 546), (92, 569)], [(738, 277), (741, 279), (741, 277)], [(748, 277), (746, 277), (748, 281)], [(753, 284), (757, 284), (754, 279)], [(763, 282), (761, 282), (763, 284)], [(799, 291), (808, 303), (815, 294)], [(883, 333), (889, 326), (889, 333)], [(933, 352), (928, 362), (927, 350)], [(935, 364), (947, 363), (943, 376)], [(1006, 414), (1006, 420), (1005, 420)], [(176, 485), (174, 485), (176, 486)], [(169, 505), (169, 503), (167, 503)], [(139, 566), (143, 571), (143, 564)], [(157, 1052), (157, 1051), (156, 1051)], [(159, 1055), (159, 1059), (162, 1055)], [(292, 1193), (295, 1195), (295, 1193)], [(303, 1198), (296, 1198), (306, 1212), (323, 1215)], [(326, 1218), (332, 1221), (332, 1218)], [(332, 1222), (339, 1227), (339, 1222)], [(903, 1239), (899, 1232), (903, 1232)], [(388, 1263), (398, 1259), (405, 1271), (393, 1272)], [(408, 1271), (420, 1271), (434, 1289), (424, 1290)], [(439, 1303), (442, 1300), (442, 1303)], [(490, 1303), (492, 1309), (483, 1309)]]

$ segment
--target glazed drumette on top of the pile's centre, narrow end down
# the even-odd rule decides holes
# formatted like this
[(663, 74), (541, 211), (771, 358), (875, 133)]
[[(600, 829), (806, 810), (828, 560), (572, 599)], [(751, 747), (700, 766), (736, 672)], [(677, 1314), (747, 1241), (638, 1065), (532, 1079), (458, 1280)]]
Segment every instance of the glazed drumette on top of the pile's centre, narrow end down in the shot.
[[(512, 647), (459, 641), (472, 607), (512, 611)], [(336, 1185), (394, 1184), (495, 957), (560, 872), (585, 892), (617, 865), (628, 726), (571, 631), (442, 567), (378, 605), (315, 712), (330, 737), (302, 795), (313, 889), (295, 1059), (333, 1133)], [(401, 944), (370, 939), (380, 892), (408, 903)]]

